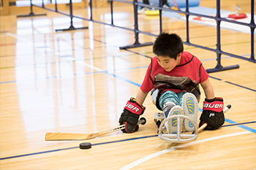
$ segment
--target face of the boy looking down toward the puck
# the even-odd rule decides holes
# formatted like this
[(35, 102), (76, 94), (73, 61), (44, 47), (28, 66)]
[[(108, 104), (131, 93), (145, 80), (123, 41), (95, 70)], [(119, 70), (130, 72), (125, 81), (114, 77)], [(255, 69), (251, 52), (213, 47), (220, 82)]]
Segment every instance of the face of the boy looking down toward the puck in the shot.
[(170, 72), (180, 63), (181, 55), (178, 55), (177, 59), (157, 55), (157, 61), (166, 72)]

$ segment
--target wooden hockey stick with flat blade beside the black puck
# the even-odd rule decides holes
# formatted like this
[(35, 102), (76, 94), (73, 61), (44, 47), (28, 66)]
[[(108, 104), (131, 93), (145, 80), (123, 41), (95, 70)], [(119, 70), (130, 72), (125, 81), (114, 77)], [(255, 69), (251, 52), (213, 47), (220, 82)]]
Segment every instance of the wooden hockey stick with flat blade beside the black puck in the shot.
[[(138, 125), (144, 125), (146, 123), (146, 119), (144, 117), (141, 117), (140, 120), (138, 120)], [(93, 139), (97, 136), (102, 136), (105, 134), (110, 134), (114, 131), (120, 131), (125, 128), (125, 125), (119, 125), (116, 128), (110, 128), (106, 131), (99, 131), (94, 134), (72, 134), (72, 133), (51, 133), (48, 132), (45, 134), (45, 141), (64, 141), (64, 140), (86, 140), (86, 139)]]

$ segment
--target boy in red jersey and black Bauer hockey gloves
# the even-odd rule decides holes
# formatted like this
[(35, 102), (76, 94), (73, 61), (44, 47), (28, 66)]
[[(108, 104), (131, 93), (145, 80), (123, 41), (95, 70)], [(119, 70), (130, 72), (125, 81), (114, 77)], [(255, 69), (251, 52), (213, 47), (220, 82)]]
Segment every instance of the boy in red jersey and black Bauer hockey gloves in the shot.
[[(153, 52), (156, 56), (151, 59), (136, 99), (130, 98), (121, 113), (119, 123), (126, 124), (123, 131), (138, 131), (138, 119), (146, 109), (143, 102), (150, 91), (153, 103), (164, 112), (165, 118), (186, 115), (197, 123), (199, 84), (206, 94), (200, 125), (208, 123), (208, 130), (219, 128), (225, 121), (223, 99), (214, 96), (208, 73), (198, 58), (184, 52), (181, 38), (177, 34), (159, 34), (154, 42)], [(176, 120), (173, 118), (165, 123), (168, 134), (176, 134)], [(195, 130), (187, 119), (184, 120), (184, 127), (187, 131)]]

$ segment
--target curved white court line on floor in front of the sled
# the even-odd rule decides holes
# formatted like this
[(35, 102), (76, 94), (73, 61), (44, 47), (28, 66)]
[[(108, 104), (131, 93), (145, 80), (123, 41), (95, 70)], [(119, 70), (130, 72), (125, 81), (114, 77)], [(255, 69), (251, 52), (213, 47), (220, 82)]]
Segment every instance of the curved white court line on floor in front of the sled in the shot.
[(176, 147), (170, 147), (169, 149), (161, 150), (159, 152), (155, 152), (155, 153), (153, 153), (151, 155), (148, 155), (144, 158), (141, 158), (141, 159), (139, 159), (139, 160), (137, 160), (133, 163), (129, 163), (127, 166), (124, 166), (120, 170), (132, 169), (133, 167), (138, 166), (140, 163), (148, 161), (151, 158), (157, 157), (159, 155), (162, 155), (164, 153), (167, 153), (167, 152), (170, 152), (170, 151), (173, 151), (173, 150), (180, 149), (182, 147), (188, 147), (188, 146), (193, 145), (193, 144), (200, 144), (200, 143), (212, 141), (212, 140), (215, 140), (215, 139), (222, 139), (222, 138), (225, 138), (225, 137), (238, 136), (238, 135), (249, 134), (249, 133), (251, 133), (251, 132), (250, 131), (244, 131), (244, 132), (239, 132), (239, 133), (234, 133), (234, 134), (225, 134), (225, 135), (222, 135), (222, 136), (215, 136), (215, 137), (211, 137), (211, 138), (208, 138), (208, 139), (201, 139), (201, 140), (198, 140), (198, 141), (195, 141), (195, 142), (189, 142), (187, 144), (181, 144), (181, 145), (178, 145)]

